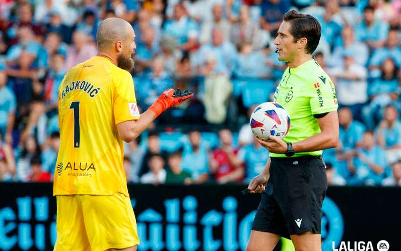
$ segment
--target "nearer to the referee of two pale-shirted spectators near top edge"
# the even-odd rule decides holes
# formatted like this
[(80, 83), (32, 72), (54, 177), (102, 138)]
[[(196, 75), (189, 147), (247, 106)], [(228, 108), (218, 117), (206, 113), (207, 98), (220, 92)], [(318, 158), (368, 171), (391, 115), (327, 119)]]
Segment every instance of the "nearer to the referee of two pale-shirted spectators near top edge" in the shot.
[(240, 7), (240, 19), (233, 25), (230, 41), (235, 45), (239, 45), (242, 42), (251, 43), (254, 48), (257, 48), (255, 45), (258, 42), (256, 40), (258, 32), (261, 31), (258, 25), (250, 19), (249, 7), (242, 5)]

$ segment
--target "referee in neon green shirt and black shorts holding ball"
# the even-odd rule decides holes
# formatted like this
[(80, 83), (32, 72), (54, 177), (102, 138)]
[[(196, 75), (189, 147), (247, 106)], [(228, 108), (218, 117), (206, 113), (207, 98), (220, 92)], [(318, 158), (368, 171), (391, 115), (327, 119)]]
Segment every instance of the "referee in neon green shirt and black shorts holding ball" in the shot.
[(333, 82), (312, 57), (320, 34), (315, 18), (292, 10), (274, 41), (279, 60), (288, 64), (274, 101), (289, 112), (291, 129), (284, 141), (257, 139), (270, 159), (248, 186), (251, 193), (263, 193), (247, 250), (273, 250), (281, 236), (291, 238), (297, 251), (321, 250), (327, 190), (321, 156), (323, 149), (337, 146), (338, 105)]

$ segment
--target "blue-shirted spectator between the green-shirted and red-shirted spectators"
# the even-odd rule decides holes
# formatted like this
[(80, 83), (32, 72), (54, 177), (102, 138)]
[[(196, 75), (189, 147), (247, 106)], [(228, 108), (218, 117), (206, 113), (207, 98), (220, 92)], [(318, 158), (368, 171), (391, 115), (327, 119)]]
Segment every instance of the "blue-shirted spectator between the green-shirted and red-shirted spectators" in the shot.
[(189, 144), (182, 154), (182, 170), (191, 173), (193, 183), (200, 184), (209, 180), (208, 149), (200, 144), (202, 138), (199, 131), (188, 133)]

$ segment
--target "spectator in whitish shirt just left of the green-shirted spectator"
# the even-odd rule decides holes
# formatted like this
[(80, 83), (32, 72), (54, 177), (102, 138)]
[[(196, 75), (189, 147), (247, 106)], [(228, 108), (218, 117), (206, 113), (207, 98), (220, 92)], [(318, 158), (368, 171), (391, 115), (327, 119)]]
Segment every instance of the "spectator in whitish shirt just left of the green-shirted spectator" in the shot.
[(163, 157), (158, 154), (150, 156), (148, 165), (150, 172), (142, 175), (141, 183), (153, 185), (164, 184), (166, 181), (166, 170), (164, 169)]

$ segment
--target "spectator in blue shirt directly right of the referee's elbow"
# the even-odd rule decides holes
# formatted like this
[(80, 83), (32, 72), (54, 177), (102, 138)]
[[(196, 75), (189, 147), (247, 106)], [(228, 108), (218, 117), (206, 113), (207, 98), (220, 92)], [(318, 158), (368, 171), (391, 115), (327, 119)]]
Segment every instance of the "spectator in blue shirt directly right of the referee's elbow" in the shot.
[(331, 153), (330, 150), (325, 150), (324, 153), (334, 154), (334, 156), (329, 156), (327, 159), (332, 161), (335, 173), (349, 180), (356, 171), (353, 165), (354, 149), (358, 146), (358, 142), (362, 140), (366, 129), (361, 122), (353, 119), (351, 109), (347, 106), (339, 109), (338, 121), (340, 124), (338, 147), (334, 153)]

